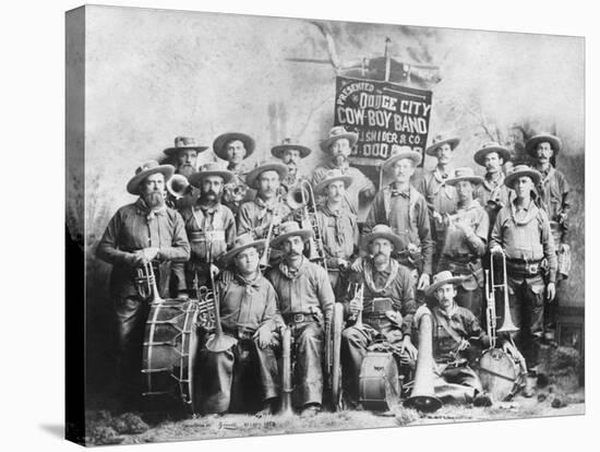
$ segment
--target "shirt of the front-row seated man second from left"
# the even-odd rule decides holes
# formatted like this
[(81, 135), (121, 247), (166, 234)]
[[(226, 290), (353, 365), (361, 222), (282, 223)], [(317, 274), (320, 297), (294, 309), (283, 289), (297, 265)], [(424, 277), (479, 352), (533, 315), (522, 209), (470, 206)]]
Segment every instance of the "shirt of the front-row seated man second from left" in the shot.
[(335, 297), (325, 269), (303, 258), (295, 274), (289, 270), (285, 262), (280, 262), (266, 275), (279, 297), (281, 316), (311, 314), (311, 309), (317, 308), (326, 319), (331, 319)]

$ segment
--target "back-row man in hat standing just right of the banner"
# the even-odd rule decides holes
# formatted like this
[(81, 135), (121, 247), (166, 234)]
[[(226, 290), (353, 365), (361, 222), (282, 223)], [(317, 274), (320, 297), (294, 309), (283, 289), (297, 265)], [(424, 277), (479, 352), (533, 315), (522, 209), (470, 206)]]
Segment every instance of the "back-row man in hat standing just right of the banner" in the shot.
[(446, 235), (444, 215), (456, 210), (456, 190), (446, 185), (446, 181), (454, 177), (453, 157), (458, 143), (460, 143), (459, 138), (437, 135), (431, 146), (425, 150), (427, 155), (437, 158), (435, 168), (424, 175), (419, 186), (419, 191), (428, 203), (431, 233), (435, 241), (434, 271), (444, 248)]

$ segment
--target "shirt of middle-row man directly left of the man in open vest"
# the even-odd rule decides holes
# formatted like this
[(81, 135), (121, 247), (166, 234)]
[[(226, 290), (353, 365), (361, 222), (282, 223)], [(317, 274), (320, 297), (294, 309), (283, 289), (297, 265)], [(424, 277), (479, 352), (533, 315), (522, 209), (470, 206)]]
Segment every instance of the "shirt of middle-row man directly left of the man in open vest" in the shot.
[(325, 254), (332, 260), (332, 265), (327, 263), (327, 266), (335, 266), (335, 258), (349, 260), (359, 240), (356, 215), (344, 209), (334, 212), (326, 204), (317, 209), (316, 222), (323, 234)]

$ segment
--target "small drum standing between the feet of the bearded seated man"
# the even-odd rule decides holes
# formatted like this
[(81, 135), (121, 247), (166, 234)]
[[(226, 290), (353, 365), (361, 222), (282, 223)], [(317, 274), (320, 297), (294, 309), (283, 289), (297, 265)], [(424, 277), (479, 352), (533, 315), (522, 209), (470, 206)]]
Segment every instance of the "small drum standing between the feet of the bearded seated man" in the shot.
[(400, 403), (398, 366), (392, 353), (367, 353), (360, 367), (359, 389), (365, 409), (385, 412)]

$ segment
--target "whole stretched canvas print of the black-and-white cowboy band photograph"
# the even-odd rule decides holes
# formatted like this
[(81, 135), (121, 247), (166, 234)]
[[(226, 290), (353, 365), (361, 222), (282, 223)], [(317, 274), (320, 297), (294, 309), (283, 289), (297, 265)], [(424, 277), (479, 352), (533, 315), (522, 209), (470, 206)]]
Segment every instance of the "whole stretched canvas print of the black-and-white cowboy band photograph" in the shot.
[(584, 414), (584, 46), (69, 11), (68, 439)]

